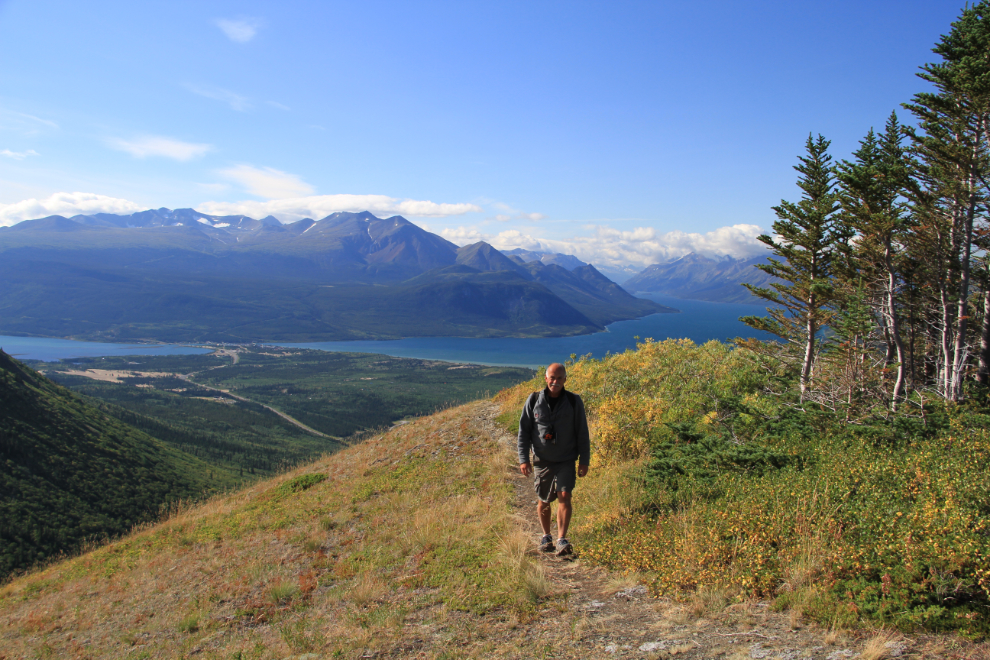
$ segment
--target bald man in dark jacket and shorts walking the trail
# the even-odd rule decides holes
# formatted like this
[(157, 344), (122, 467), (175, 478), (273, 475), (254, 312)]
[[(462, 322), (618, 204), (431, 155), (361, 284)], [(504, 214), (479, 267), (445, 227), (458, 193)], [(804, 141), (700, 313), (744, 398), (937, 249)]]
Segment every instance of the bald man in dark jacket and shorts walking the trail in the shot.
[[(533, 392), (526, 399), (519, 417), (519, 470), (529, 476), (535, 469), (536, 516), (543, 528), (540, 550), (563, 557), (574, 551), (567, 540), (567, 526), (571, 522), (571, 492), (574, 490), (574, 462), (578, 462), (577, 476), (588, 474), (591, 458), (591, 439), (588, 435), (588, 419), (584, 414), (584, 402), (573, 392), (564, 390), (567, 372), (564, 365), (554, 363), (547, 367), (547, 386), (541, 392)], [(533, 462), (529, 450), (533, 450)], [(550, 503), (557, 500), (557, 543), (550, 534)]]

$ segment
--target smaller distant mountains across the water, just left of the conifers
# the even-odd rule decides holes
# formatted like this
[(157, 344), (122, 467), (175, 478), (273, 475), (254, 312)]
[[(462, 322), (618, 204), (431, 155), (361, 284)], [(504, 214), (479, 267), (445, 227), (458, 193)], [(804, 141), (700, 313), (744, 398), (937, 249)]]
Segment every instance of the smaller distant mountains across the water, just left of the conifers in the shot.
[(669, 263), (648, 266), (625, 282), (623, 287), (637, 293), (659, 293), (674, 298), (761, 304), (743, 282), (768, 286), (775, 278), (756, 268), (766, 257), (735, 259), (712, 258), (691, 253)]

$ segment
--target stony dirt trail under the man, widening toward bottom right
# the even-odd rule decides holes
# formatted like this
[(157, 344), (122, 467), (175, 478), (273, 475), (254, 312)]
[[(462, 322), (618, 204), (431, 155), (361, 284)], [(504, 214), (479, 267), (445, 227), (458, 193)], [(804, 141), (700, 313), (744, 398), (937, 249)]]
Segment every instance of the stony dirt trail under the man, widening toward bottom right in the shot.
[[(515, 438), (495, 422), (497, 406), (478, 407), (474, 422), (515, 451)], [(558, 559), (536, 550), (541, 534), (536, 521), (536, 497), (530, 478), (518, 475), (516, 508), (521, 524), (532, 538), (533, 555), (539, 557), (554, 594), (549, 605), (533, 621), (514, 633), (517, 649), (528, 653), (515, 657), (552, 658), (988, 658), (987, 646), (974, 646), (949, 638), (890, 635), (876, 655), (863, 653), (875, 634), (836, 633), (804, 624), (788, 613), (771, 611), (766, 602), (725, 606), (716, 603), (679, 604), (652, 598), (642, 585), (613, 576), (580, 559), (580, 537), (573, 538), (576, 557)], [(575, 510), (581, 506), (579, 480)], [(554, 523), (556, 524), (556, 523)], [(508, 641), (508, 640), (507, 640)], [(503, 649), (507, 647), (503, 645)]]

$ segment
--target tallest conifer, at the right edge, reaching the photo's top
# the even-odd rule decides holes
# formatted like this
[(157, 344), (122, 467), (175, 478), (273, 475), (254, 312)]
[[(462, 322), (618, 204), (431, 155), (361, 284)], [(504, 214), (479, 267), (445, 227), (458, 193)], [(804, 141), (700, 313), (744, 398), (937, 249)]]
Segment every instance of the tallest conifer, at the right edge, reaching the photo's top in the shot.
[(971, 353), (973, 240), (990, 186), (990, 3), (967, 7), (933, 51), (942, 61), (918, 75), (935, 91), (916, 94), (905, 107), (919, 124), (908, 131), (919, 162), (914, 210), (927, 232), (919, 238), (941, 267), (938, 388), (959, 400)]

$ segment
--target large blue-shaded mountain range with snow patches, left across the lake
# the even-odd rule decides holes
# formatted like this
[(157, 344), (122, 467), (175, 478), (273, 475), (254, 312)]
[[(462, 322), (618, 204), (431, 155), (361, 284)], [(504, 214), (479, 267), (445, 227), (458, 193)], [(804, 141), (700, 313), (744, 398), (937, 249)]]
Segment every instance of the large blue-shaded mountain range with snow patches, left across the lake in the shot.
[(458, 247), (401, 216), (193, 209), (0, 229), (0, 333), (111, 341), (559, 336), (676, 311), (573, 257)]

